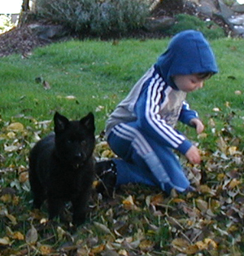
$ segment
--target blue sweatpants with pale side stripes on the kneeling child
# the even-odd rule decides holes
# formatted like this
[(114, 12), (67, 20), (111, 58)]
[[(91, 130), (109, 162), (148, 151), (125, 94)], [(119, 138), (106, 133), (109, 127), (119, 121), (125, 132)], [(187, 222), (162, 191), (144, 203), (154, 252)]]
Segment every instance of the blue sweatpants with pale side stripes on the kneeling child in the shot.
[(144, 183), (159, 186), (168, 193), (172, 188), (184, 192), (190, 186), (172, 149), (145, 135), (138, 129), (137, 122), (115, 126), (107, 141), (120, 157), (113, 159), (117, 168), (116, 186)]

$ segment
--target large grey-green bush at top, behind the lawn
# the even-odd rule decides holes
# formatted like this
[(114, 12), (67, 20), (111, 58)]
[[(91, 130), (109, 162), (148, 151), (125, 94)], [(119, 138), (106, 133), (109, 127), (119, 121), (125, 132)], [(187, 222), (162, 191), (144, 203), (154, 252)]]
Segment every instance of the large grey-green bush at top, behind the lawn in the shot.
[(37, 14), (76, 33), (128, 33), (145, 23), (147, 0), (39, 0)]

